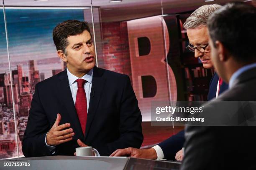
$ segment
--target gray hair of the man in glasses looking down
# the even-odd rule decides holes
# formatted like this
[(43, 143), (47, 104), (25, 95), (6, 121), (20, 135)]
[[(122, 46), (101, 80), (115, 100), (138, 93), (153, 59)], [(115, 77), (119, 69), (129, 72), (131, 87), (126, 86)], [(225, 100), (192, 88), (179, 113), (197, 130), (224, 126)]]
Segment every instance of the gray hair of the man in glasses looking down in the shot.
[(207, 26), (207, 20), (215, 10), (220, 9), (221, 5), (212, 4), (212, 5), (203, 5), (197, 10), (195, 10), (189, 18), (185, 21), (183, 28), (184, 29), (195, 29), (201, 26)]

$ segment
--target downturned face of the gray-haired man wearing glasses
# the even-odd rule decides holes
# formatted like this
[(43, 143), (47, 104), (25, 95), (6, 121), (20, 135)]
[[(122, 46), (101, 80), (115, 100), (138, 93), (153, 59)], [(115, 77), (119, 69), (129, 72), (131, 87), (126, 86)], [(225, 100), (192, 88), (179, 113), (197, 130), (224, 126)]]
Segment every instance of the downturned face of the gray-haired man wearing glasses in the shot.
[[(207, 27), (202, 26), (195, 29), (187, 29), (187, 37), (189, 39), (189, 43), (192, 44), (194, 47), (197, 46), (205, 46), (209, 43), (209, 36), (207, 32)], [(210, 60), (210, 46), (208, 45), (205, 48), (205, 52), (200, 52), (199, 50), (195, 49), (195, 57), (199, 57), (203, 67), (205, 68), (212, 68), (212, 62)]]

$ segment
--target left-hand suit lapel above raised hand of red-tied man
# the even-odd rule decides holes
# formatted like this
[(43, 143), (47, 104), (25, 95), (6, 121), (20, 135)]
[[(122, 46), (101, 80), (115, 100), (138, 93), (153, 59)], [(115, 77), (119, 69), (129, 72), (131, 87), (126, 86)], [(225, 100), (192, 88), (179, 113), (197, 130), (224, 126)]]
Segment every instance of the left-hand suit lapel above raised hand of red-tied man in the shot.
[[(84, 137), (82, 133), (82, 128), (79, 122), (79, 118), (77, 116), (77, 111), (74, 106), (74, 101), (72, 98), (72, 94), (69, 87), (69, 80), (67, 77), (67, 69), (62, 72), (59, 76), (59, 94), (60, 100), (64, 102), (64, 105), (67, 109), (67, 115), (70, 117), (70, 124), (74, 127), (74, 132), (80, 139)], [(63, 113), (60, 113), (63, 114)]]

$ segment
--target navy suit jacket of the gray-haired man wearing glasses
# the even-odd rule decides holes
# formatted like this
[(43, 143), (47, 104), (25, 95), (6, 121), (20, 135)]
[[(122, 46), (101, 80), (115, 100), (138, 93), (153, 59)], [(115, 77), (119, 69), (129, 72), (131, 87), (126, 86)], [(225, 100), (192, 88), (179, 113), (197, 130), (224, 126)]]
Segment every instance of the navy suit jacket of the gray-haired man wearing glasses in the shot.
[[(216, 90), (218, 85), (219, 76), (215, 73), (210, 81), (210, 87), (207, 100), (212, 100), (216, 96)], [(220, 93), (228, 89), (228, 84), (223, 82), (220, 86)], [(220, 94), (219, 93), (219, 94)], [(184, 130), (180, 131), (176, 135), (172, 135), (170, 138), (164, 140), (158, 145), (163, 150), (164, 158), (167, 160), (175, 160), (176, 153), (182, 149), (185, 142)]]

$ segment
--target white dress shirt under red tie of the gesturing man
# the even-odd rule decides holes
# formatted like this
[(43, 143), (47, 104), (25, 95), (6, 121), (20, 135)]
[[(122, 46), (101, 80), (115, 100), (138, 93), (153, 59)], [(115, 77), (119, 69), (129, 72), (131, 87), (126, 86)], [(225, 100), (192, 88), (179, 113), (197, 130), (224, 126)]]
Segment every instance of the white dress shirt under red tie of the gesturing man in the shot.
[[(88, 109), (89, 109), (90, 93), (91, 93), (91, 90), (92, 90), (92, 75), (93, 75), (93, 68), (86, 75), (81, 77), (81, 79), (86, 80), (86, 82), (84, 83), (84, 91), (85, 91), (85, 94), (86, 94), (86, 101), (87, 101), (87, 113), (88, 113)], [(77, 97), (77, 82), (76, 82), (76, 80), (79, 79), (79, 77), (77, 77), (77, 76), (73, 75), (71, 72), (69, 72), (68, 68), (67, 68), (67, 76), (68, 76), (68, 80), (69, 80), (70, 91), (71, 91), (72, 98), (73, 98), (74, 105), (75, 105), (76, 104), (76, 97)], [(48, 133), (46, 133), (46, 136), (47, 136)], [(45, 136), (45, 143), (46, 143), (46, 136)], [(47, 148), (49, 148), (50, 151), (55, 149), (55, 146), (50, 146), (47, 143), (46, 143), (46, 146), (47, 146)], [(54, 154), (54, 153), (52, 153), (52, 154)]]

